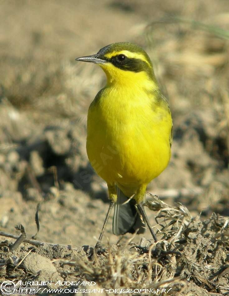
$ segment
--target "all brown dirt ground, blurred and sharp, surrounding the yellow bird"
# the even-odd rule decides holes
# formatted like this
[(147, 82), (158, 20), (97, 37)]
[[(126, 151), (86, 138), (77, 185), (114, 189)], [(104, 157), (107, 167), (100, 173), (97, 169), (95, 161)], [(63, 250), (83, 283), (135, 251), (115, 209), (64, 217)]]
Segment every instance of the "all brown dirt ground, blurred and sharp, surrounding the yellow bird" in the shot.
[[(40, 203), (37, 239), (78, 246), (33, 246), (16, 267), (32, 245), (9, 253), (15, 240), (2, 236), (0, 281), (88, 279), (108, 289), (164, 285), (174, 295), (228, 293), (228, 1), (0, 4), (0, 231), (17, 235), (22, 224), (31, 238)], [(185, 210), (184, 223), (180, 209), (178, 216), (168, 212), (179, 222), (162, 231), (167, 253), (152, 256), (147, 244), (131, 249), (141, 236), (117, 245), (110, 219), (107, 252), (88, 259), (108, 200), (106, 184), (88, 163), (86, 116), (105, 77), (74, 59), (117, 41), (136, 42), (149, 53), (173, 116), (172, 158), (148, 191), (171, 206), (182, 203), (193, 218)], [(156, 212), (147, 213), (155, 225)], [(37, 270), (38, 254), (41, 261), (60, 260), (42, 261)]]

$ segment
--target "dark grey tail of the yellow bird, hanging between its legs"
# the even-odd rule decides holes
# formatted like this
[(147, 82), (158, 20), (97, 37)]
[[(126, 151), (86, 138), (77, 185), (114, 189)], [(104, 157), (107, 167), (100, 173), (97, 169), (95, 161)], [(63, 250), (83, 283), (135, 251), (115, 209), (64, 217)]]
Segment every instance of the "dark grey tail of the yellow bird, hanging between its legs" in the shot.
[(113, 218), (113, 233), (116, 235), (125, 234), (126, 232), (134, 233), (137, 228), (137, 233), (145, 232), (145, 224), (142, 221), (139, 213), (136, 210), (135, 199), (131, 198), (128, 203), (128, 197), (117, 188), (117, 202), (115, 204), (114, 218)]

